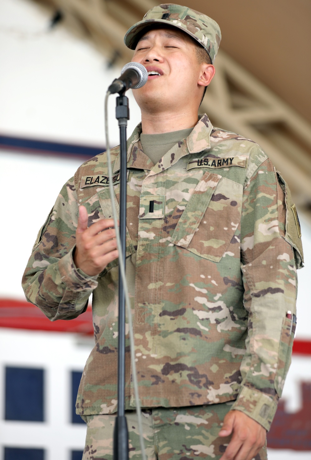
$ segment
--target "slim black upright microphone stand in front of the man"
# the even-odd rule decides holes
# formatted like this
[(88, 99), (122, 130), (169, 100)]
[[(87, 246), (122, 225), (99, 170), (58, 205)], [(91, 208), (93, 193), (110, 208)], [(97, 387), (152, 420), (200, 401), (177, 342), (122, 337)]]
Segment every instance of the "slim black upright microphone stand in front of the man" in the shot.
[[(124, 91), (119, 92), (119, 96), (117, 97), (116, 118), (120, 131), (120, 240), (125, 267), (127, 181), (126, 127), (129, 120), (129, 99), (124, 96)], [(113, 197), (111, 197), (111, 200), (113, 200)], [(117, 417), (113, 432), (113, 460), (129, 460), (129, 433), (125, 417), (125, 295), (120, 268), (118, 331)]]

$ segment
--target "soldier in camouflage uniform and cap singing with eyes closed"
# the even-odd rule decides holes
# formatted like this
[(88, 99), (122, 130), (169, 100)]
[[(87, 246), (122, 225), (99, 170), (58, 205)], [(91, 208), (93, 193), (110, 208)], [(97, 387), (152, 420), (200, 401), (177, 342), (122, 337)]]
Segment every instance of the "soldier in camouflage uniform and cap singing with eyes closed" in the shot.
[[(295, 330), (296, 208), (257, 144), (198, 117), (215, 73), (215, 21), (160, 5), (124, 41), (149, 75), (134, 90), (141, 124), (127, 144), (126, 249), (147, 458), (264, 460)], [(118, 201), (118, 147), (111, 155)], [(95, 345), (76, 404), (88, 424), (83, 460), (112, 459), (117, 406), (107, 175), (103, 153), (64, 185), (23, 276), (27, 299), (52, 321), (81, 314), (93, 293)], [(138, 460), (129, 352), (126, 382), (130, 458)]]

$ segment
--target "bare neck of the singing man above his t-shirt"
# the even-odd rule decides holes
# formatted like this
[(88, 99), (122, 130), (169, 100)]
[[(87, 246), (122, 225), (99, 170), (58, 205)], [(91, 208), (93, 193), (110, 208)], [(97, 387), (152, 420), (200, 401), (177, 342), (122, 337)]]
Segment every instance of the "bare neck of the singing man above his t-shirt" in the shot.
[(194, 127), (198, 122), (198, 111), (192, 113), (149, 113), (141, 110), (143, 134), (161, 134)]

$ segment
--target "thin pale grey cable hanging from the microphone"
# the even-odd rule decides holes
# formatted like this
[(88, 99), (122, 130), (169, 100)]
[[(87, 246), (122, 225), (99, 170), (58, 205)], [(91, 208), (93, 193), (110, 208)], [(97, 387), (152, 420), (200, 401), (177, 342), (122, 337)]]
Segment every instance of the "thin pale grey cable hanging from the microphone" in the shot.
[[(110, 155), (110, 147), (109, 147), (110, 144), (109, 144), (109, 133), (108, 133), (108, 97), (110, 96), (110, 94), (111, 94), (110, 91), (106, 92), (105, 115), (104, 116), (105, 116), (106, 154), (107, 154), (107, 161), (108, 161), (109, 191), (110, 191), (110, 198), (111, 198), (113, 222), (114, 222), (115, 229), (117, 229), (118, 228), (117, 209), (115, 206), (115, 201), (114, 201), (115, 193), (114, 193), (113, 185), (112, 185), (112, 168), (111, 168), (111, 155)], [(132, 378), (133, 378), (133, 386), (134, 386), (134, 394), (135, 394), (136, 414), (137, 414), (137, 420), (138, 420), (139, 439), (140, 439), (140, 444), (141, 444), (141, 455), (142, 455), (142, 460), (147, 460), (146, 453), (145, 453), (145, 443), (144, 443), (143, 431), (142, 431), (142, 422), (141, 422), (141, 403), (140, 403), (139, 394), (138, 394), (132, 312), (131, 312), (131, 305), (129, 301), (129, 290), (128, 290), (128, 285), (127, 285), (126, 277), (125, 277), (125, 267), (123, 264), (123, 253), (122, 253), (122, 247), (121, 247), (120, 234), (118, 231), (116, 231), (116, 237), (117, 237), (117, 250), (119, 253), (119, 267), (120, 267), (120, 273), (121, 273), (121, 278), (123, 282), (126, 312), (128, 316), (128, 322), (129, 322), (129, 344), (130, 344), (129, 348), (130, 348), (131, 364), (132, 364)]]

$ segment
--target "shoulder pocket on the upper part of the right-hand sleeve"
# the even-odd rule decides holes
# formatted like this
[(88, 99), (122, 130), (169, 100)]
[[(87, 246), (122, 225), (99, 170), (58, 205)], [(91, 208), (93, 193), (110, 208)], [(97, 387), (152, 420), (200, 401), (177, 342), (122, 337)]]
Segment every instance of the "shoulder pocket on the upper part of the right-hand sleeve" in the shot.
[(301, 229), (296, 206), (293, 203), (292, 194), (288, 184), (282, 178), (281, 174), (275, 169), (276, 178), (285, 195), (285, 239), (293, 247), (297, 268), (303, 267), (304, 253), (301, 242)]

